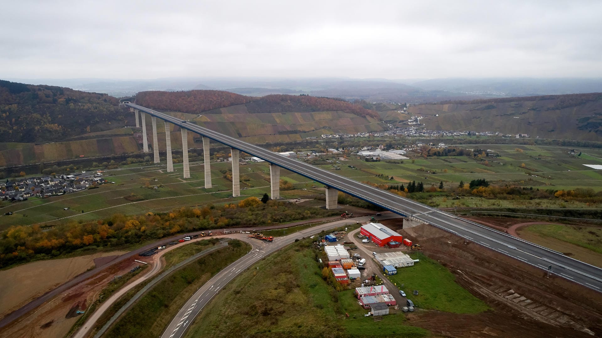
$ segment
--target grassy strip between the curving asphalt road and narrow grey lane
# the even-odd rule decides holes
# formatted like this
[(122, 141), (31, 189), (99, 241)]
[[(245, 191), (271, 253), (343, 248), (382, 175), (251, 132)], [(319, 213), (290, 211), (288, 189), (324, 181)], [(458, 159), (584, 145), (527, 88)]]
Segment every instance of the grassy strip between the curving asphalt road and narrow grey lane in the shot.
[[(228, 247), (183, 266), (144, 294), (104, 336), (160, 336), (193, 290), (249, 250), (250, 245), (234, 240)], [(140, 321), (140, 318), (144, 320)]]

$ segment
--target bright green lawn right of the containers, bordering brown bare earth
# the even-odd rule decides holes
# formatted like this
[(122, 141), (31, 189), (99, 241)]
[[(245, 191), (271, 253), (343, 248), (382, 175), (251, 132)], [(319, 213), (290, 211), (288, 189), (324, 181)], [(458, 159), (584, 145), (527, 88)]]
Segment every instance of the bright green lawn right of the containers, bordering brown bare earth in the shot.
[[(415, 306), (453, 313), (480, 313), (489, 309), (482, 300), (456, 283), (456, 277), (447, 268), (424, 254), (411, 256), (420, 262), (397, 269), (397, 274), (389, 279), (406, 292)], [(418, 290), (418, 295), (412, 295), (413, 290)]]

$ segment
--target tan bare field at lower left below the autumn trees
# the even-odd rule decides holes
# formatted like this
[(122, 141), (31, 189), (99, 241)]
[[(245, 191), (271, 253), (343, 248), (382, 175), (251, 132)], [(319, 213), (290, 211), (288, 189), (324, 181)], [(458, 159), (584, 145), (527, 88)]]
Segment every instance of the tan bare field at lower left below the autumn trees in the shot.
[[(125, 253), (112, 251), (64, 259), (42, 260), (0, 271), (0, 318), (28, 303), (48, 290), (72, 279), (111, 256)], [(104, 257), (107, 257), (104, 259)], [(104, 260), (102, 260), (104, 259)]]

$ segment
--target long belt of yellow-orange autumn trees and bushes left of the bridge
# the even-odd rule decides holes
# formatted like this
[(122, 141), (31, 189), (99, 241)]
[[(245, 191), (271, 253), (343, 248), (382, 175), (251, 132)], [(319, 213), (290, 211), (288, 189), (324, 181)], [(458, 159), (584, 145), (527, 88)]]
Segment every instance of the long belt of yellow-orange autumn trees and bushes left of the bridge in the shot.
[(249, 197), (237, 204), (182, 207), (138, 216), (116, 214), (93, 223), (72, 221), (51, 229), (39, 225), (14, 226), (0, 233), (0, 268), (86, 248), (119, 248), (195, 230), (266, 226), (336, 214), (335, 210), (273, 200), (262, 203), (256, 197)]

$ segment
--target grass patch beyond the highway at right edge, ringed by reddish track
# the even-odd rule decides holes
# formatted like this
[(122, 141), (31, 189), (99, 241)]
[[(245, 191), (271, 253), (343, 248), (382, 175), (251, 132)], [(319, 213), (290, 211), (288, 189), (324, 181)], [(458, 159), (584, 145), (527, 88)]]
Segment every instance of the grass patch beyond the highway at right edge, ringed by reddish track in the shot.
[(536, 233), (560, 241), (602, 253), (602, 228), (566, 226), (561, 224), (535, 224), (527, 226), (521, 231)]

